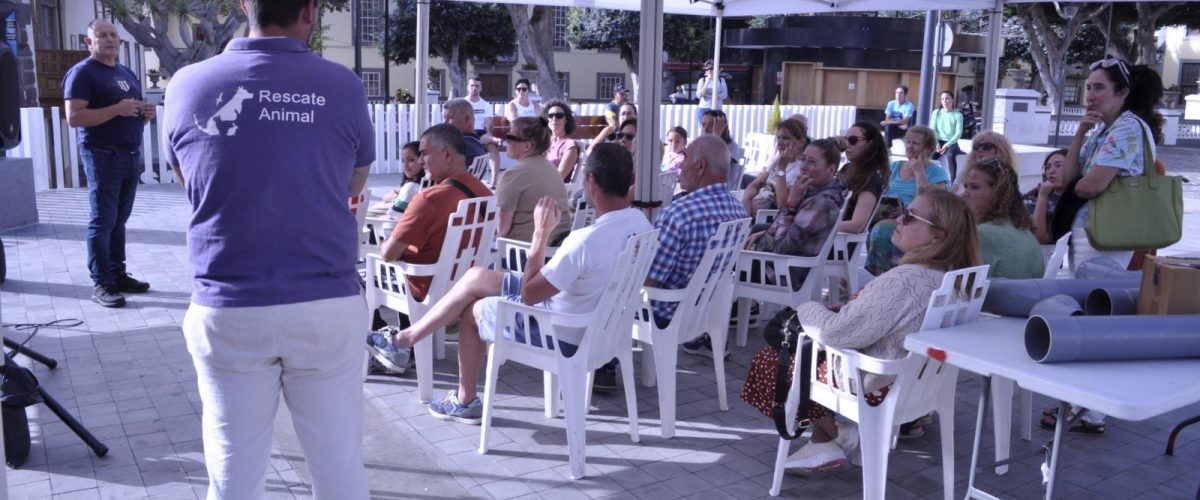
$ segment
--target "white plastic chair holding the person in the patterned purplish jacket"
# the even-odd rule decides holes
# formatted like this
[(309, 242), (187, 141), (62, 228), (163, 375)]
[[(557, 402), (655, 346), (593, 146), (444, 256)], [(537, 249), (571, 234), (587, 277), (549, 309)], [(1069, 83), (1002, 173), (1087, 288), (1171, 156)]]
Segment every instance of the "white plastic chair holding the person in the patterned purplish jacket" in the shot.
[[(850, 198), (841, 204), (836, 221), (846, 213)], [(774, 221), (778, 210), (760, 210), (755, 215), (756, 223)], [(810, 300), (821, 297), (821, 279), (826, 255), (833, 247), (838, 230), (833, 228), (826, 236), (821, 249), (812, 257), (781, 255), (770, 252), (742, 251), (738, 255), (738, 270), (733, 279), (733, 297), (738, 300), (738, 347), (745, 347), (750, 329), (750, 301), (778, 303), (796, 307)], [(792, 287), (792, 269), (808, 267), (809, 273), (798, 289)]]

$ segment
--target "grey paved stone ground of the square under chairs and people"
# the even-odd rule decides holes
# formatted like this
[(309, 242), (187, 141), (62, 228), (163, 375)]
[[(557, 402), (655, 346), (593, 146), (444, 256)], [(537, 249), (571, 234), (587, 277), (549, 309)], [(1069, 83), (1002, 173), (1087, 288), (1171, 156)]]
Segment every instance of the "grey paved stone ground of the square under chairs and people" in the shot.
[[(1183, 158), (1194, 163), (1196, 150)], [(395, 176), (376, 176), (388, 186)], [(0, 285), (6, 324), (77, 318), (78, 327), (43, 329), (29, 345), (59, 360), (56, 369), (30, 366), (42, 386), (110, 448), (94, 456), (46, 406), (29, 409), (34, 435), (29, 460), (8, 470), (13, 499), (191, 499), (206, 490), (199, 402), (180, 321), (188, 301), (190, 271), (184, 230), (187, 206), (174, 186), (144, 186), (128, 230), (131, 271), (154, 284), (124, 309), (89, 301), (84, 233), (86, 193), (38, 194), (41, 224), (2, 234), (8, 281)], [(1190, 242), (1200, 249), (1200, 203), (1188, 204)], [(268, 235), (264, 235), (268, 236)], [(26, 333), (8, 330), (7, 338)], [(361, 342), (352, 339), (350, 342)], [(751, 355), (762, 345), (751, 335), (726, 363), (730, 410), (715, 400), (712, 361), (680, 356), (678, 433), (659, 436), (654, 390), (638, 386), (642, 440), (625, 434), (624, 398), (598, 394), (588, 418), (589, 478), (566, 474), (564, 421), (541, 410), (540, 374), (505, 366), (496, 403), (492, 451), (478, 454), (479, 428), (446, 423), (416, 403), (412, 375), (371, 376), (365, 386), (366, 464), (373, 498), (761, 498), (770, 480), (776, 438), (769, 421), (738, 399)], [(452, 387), (454, 344), (434, 366), (436, 391)], [(955, 414), (956, 494), (966, 483), (979, 380), (961, 376)], [(1038, 406), (1049, 404), (1039, 398)], [(1177, 454), (1163, 454), (1174, 424), (1200, 414), (1193, 405), (1144, 422), (1111, 422), (1103, 438), (1073, 438), (1063, 450), (1058, 492), (1066, 498), (1190, 499), (1200, 483), (1200, 429), (1181, 436)], [(1037, 450), (1015, 440), (1014, 451)], [(986, 440), (990, 440), (988, 438)], [(307, 498), (307, 470), (289, 417), (282, 411), (268, 470), (268, 498)], [(932, 498), (941, 489), (938, 439), (902, 441), (892, 454), (889, 498)], [(985, 453), (990, 446), (985, 447)], [(1012, 466), (1006, 476), (982, 472), (980, 483), (1004, 498), (1039, 494), (1039, 458)], [(821, 477), (785, 478), (784, 495), (812, 499), (860, 496), (862, 475), (851, 468)]]

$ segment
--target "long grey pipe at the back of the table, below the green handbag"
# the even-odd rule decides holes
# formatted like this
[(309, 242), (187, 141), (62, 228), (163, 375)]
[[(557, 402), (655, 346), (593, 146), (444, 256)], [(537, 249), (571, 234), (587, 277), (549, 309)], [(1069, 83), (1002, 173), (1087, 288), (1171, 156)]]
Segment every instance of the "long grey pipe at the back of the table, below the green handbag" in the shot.
[(1138, 288), (1141, 279), (1002, 279), (991, 281), (983, 309), (1006, 317), (1027, 317), (1043, 299), (1067, 295), (1079, 303), (1097, 288)]

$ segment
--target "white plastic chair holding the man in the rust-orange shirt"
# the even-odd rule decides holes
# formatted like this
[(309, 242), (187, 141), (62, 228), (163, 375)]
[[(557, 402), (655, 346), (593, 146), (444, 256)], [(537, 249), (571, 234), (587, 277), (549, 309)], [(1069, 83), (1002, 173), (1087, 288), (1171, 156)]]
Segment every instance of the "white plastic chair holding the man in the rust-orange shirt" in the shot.
[[(472, 266), (485, 264), (487, 248), (496, 239), (496, 197), (472, 198), (458, 201), (458, 210), (446, 218), (446, 235), (442, 253), (433, 264), (409, 264), (383, 260), (377, 253), (367, 255), (367, 311), (374, 313), (388, 307), (416, 321), (450, 290), (450, 287)], [(409, 294), (408, 279), (430, 277), (430, 291), (418, 301)], [(432, 338), (431, 338), (432, 337)], [(433, 398), (433, 350), (445, 357), (445, 332), (426, 337), (413, 347), (416, 360), (416, 392), (425, 403)], [(367, 356), (370, 356), (367, 351)]]

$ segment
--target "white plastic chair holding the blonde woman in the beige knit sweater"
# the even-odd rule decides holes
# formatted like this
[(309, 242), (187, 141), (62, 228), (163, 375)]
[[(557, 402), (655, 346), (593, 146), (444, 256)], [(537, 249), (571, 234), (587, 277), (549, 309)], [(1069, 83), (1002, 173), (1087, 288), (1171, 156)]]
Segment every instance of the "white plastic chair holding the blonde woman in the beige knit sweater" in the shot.
[[(988, 294), (988, 266), (967, 267), (947, 272), (942, 285), (934, 290), (920, 330), (961, 325), (979, 318), (979, 309)], [(961, 290), (961, 291), (960, 291)], [(805, 325), (811, 336), (815, 330)], [(827, 380), (817, 378), (817, 353), (824, 350)], [(800, 351), (797, 351), (799, 355)], [(798, 360), (797, 360), (798, 361)], [(888, 477), (888, 452), (892, 435), (900, 423), (937, 411), (942, 433), (942, 486), (946, 500), (954, 496), (954, 390), (959, 369), (954, 366), (910, 353), (900, 360), (880, 360), (857, 350), (842, 350), (812, 342), (811, 391), (809, 398), (839, 415), (858, 423), (863, 454), (863, 498), (883, 500)], [(866, 375), (893, 376), (887, 397), (878, 406), (866, 404)], [(794, 432), (799, 410), (800, 375), (792, 375), (787, 393), (786, 421)], [(770, 495), (778, 496), (784, 481), (788, 447), (792, 441), (779, 440), (775, 453), (775, 474)]]

